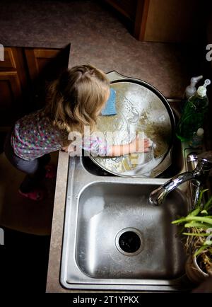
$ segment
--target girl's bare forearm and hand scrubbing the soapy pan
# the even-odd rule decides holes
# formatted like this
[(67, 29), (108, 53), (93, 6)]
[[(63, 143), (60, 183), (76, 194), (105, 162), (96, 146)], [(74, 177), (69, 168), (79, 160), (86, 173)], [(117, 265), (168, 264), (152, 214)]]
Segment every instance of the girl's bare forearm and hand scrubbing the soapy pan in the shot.
[(110, 146), (107, 156), (124, 156), (126, 154), (146, 152), (149, 146), (150, 142), (148, 139), (141, 140), (139, 137), (136, 137), (130, 144)]

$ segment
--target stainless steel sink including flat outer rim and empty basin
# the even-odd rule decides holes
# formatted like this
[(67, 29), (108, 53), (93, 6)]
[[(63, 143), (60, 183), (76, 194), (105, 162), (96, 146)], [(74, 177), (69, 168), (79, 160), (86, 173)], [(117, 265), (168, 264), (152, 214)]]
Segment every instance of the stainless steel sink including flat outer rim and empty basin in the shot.
[[(182, 169), (187, 170), (182, 148)], [(179, 230), (171, 221), (191, 206), (189, 184), (165, 203), (148, 203), (167, 178), (124, 178), (87, 170), (69, 159), (61, 285), (66, 289), (182, 291), (191, 289)]]

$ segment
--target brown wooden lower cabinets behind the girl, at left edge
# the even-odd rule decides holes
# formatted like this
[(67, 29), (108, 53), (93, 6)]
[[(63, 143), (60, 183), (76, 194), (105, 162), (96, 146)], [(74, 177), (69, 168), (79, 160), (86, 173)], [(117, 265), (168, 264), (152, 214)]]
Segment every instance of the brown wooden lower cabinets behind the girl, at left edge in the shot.
[(5, 47), (0, 61), (0, 151), (6, 132), (18, 118), (42, 108), (46, 86), (68, 67), (64, 49)]

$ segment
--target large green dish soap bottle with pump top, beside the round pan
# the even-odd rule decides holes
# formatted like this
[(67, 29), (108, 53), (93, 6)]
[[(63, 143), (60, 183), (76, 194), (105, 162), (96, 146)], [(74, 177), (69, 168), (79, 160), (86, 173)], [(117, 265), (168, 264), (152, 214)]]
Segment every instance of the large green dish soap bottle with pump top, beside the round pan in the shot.
[(206, 79), (204, 86), (199, 86), (196, 93), (185, 103), (182, 116), (176, 128), (176, 136), (181, 141), (191, 140), (194, 133), (200, 127), (203, 127), (204, 117), (208, 110), (206, 86), (210, 83), (211, 81)]

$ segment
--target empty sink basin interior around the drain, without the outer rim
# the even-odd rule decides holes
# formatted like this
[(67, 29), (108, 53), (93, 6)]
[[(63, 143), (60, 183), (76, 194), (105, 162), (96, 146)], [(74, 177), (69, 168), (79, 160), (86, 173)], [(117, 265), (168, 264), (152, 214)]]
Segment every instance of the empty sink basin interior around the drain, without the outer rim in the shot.
[[(171, 221), (187, 213), (179, 190), (161, 207), (148, 203), (158, 185), (92, 183), (78, 199), (76, 262), (98, 279), (176, 279), (184, 250)], [(168, 251), (168, 252), (167, 252)]]

